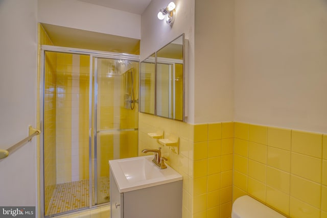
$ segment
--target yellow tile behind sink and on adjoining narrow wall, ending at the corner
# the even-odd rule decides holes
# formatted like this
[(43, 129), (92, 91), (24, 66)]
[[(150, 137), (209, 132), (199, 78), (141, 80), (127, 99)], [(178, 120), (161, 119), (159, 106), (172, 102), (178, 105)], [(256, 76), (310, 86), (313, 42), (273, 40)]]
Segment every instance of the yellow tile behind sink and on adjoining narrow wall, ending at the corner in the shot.
[(138, 155), (160, 144), (147, 133), (179, 137), (179, 154), (162, 147), (167, 163), (183, 176), (182, 217), (230, 217), (232, 203), (233, 123), (191, 125), (139, 113)]

